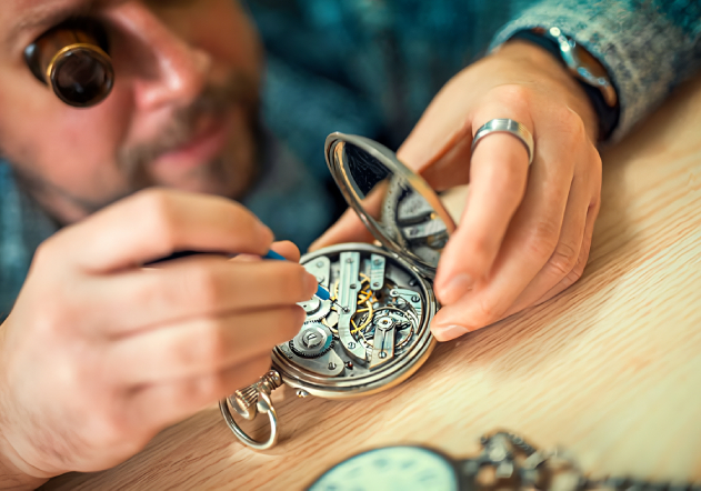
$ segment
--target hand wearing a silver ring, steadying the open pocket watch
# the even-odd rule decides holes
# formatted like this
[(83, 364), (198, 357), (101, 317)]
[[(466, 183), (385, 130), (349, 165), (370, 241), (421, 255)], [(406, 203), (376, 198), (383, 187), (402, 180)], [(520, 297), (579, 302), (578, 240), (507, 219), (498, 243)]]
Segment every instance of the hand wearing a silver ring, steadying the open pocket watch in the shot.
[[(535, 141), (495, 133), (494, 118), (523, 123)], [(470, 183), (464, 212), (442, 252), (431, 322), (440, 341), (541, 303), (582, 274), (599, 212), (597, 119), (582, 88), (549, 53), (523, 41), (458, 73), (398, 151), (437, 190)], [(349, 210), (313, 248), (367, 240)]]

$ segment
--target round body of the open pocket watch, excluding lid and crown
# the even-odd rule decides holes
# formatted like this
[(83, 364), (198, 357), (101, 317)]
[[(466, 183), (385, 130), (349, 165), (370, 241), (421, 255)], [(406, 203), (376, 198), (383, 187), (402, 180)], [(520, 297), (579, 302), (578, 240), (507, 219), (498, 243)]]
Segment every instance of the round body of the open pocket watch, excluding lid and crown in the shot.
[(370, 244), (327, 248), (301, 263), (331, 299), (304, 302), (300, 332), (274, 349), (286, 383), (340, 398), (391, 387), (425, 360), (435, 302), (409, 265)]

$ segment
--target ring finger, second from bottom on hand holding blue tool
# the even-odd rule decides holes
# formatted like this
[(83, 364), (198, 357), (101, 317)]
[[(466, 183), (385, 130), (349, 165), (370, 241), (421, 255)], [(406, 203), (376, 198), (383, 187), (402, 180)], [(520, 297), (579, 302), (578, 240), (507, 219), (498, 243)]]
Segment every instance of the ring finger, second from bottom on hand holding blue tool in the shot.
[(270, 354), (294, 338), (304, 311), (292, 305), (197, 319), (114, 341), (108, 364), (118, 383), (138, 385), (217, 373)]

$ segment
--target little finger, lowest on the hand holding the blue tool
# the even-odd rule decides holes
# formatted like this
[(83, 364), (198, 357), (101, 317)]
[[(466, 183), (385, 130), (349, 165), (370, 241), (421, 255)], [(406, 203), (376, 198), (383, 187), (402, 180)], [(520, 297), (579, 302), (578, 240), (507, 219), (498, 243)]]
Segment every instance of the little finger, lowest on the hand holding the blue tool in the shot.
[(270, 355), (266, 354), (218, 373), (146, 385), (129, 394), (126, 417), (133, 427), (156, 434), (256, 382), (269, 369)]

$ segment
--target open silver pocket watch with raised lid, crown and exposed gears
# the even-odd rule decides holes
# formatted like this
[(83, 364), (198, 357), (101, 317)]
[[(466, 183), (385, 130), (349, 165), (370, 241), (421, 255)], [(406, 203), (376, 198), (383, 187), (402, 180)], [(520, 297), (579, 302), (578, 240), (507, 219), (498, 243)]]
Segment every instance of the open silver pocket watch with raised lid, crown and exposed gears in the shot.
[[(270, 393), (283, 383), (300, 397), (367, 395), (409, 378), (435, 345), (432, 280), (453, 220), (431, 187), (378, 142), (332, 133), (324, 150), (343, 197), (381, 246), (343, 243), (301, 258), (331, 298), (303, 302), (307, 320), (273, 349), (272, 369), (219, 403), (233, 433), (258, 450), (277, 442)], [(231, 409), (247, 420), (267, 414), (269, 438), (250, 438)]]

